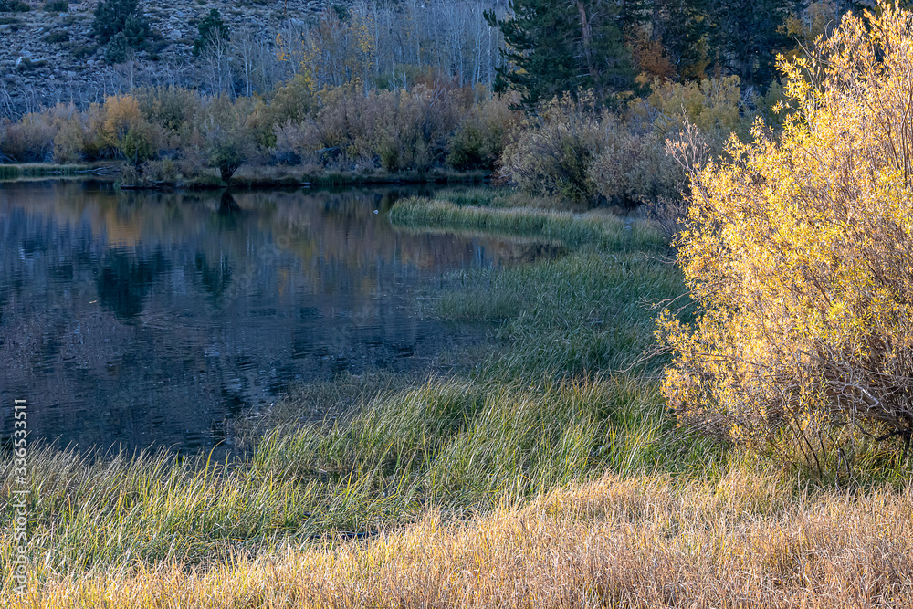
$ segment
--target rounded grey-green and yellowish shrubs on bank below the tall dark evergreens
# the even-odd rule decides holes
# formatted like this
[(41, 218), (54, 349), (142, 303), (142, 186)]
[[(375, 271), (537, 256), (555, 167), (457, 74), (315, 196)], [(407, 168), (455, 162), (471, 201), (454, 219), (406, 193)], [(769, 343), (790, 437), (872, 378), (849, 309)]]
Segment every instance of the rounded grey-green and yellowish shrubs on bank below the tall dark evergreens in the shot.
[[(769, 96), (776, 97), (776, 91)], [(702, 159), (719, 156), (732, 133), (745, 140), (754, 108), (770, 100), (740, 89), (737, 77), (700, 83), (656, 83), (645, 100), (623, 112), (598, 108), (592, 96), (544, 104), (537, 120), (518, 131), (501, 159), (501, 173), (530, 194), (561, 196), (579, 205), (634, 206), (678, 198), (687, 175), (666, 153), (666, 140), (697, 139)], [(689, 131), (690, 127), (690, 131)], [(452, 154), (467, 148), (455, 137)]]

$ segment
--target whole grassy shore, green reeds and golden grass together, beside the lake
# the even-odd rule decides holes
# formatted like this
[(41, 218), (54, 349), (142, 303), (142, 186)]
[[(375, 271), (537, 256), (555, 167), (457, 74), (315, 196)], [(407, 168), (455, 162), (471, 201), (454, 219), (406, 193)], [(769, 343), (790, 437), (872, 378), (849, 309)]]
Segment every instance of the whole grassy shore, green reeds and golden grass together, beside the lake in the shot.
[[(908, 551), (908, 536), (879, 532), (913, 524), (905, 484), (800, 484), (683, 435), (666, 416), (664, 360), (643, 357), (654, 342), (650, 303), (684, 286), (651, 226), (514, 203), (443, 193), (390, 215), (402, 229), (567, 248), (442, 279), (430, 314), (497, 329), (462, 372), (352, 377), (289, 395), (247, 430), (251, 457), (229, 464), (37, 449), (22, 606), (913, 599), (913, 562), (888, 560)], [(318, 410), (340, 415), (301, 415)], [(2, 488), (11, 477), (4, 462)], [(5, 574), (7, 499), (0, 490)], [(0, 600), (18, 606), (12, 587), (5, 575)]]

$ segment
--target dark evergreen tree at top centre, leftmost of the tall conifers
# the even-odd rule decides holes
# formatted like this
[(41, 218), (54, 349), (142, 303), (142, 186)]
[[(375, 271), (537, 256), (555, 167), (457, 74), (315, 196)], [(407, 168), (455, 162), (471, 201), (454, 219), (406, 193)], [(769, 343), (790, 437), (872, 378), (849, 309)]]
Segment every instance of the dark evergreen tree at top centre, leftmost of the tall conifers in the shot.
[[(564, 91), (593, 89), (607, 98), (630, 89), (634, 77), (624, 45), (622, 2), (512, 0), (510, 19), (486, 18), (504, 35), (511, 65), (498, 70), (497, 89), (522, 93), (527, 109)], [(633, 5), (633, 4), (632, 4)]]

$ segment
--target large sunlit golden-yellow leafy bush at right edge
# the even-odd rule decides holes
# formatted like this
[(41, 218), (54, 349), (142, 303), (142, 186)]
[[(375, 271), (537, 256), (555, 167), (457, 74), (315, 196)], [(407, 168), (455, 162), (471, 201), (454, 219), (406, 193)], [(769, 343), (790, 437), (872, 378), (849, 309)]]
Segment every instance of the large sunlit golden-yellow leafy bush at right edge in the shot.
[(913, 16), (879, 3), (819, 49), (780, 61), (780, 135), (692, 168), (698, 314), (660, 335), (682, 423), (824, 471), (913, 435)]

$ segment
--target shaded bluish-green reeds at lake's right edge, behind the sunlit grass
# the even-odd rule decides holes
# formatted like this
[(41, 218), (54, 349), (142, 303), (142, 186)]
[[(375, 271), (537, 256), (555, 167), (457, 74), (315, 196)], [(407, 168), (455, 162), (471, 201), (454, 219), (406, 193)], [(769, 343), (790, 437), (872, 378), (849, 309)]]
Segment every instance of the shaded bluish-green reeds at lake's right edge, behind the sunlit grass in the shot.
[[(661, 236), (614, 215), (488, 205), (508, 196), (453, 191), (390, 211), (394, 226), (539, 237), (569, 248), (531, 264), (453, 273), (436, 294), (436, 314), (498, 323), (505, 346), (487, 358), (488, 370), (510, 377), (617, 371), (643, 360), (654, 346), (651, 305), (684, 289), (677, 268), (663, 259)], [(477, 203), (483, 205), (471, 205)]]

